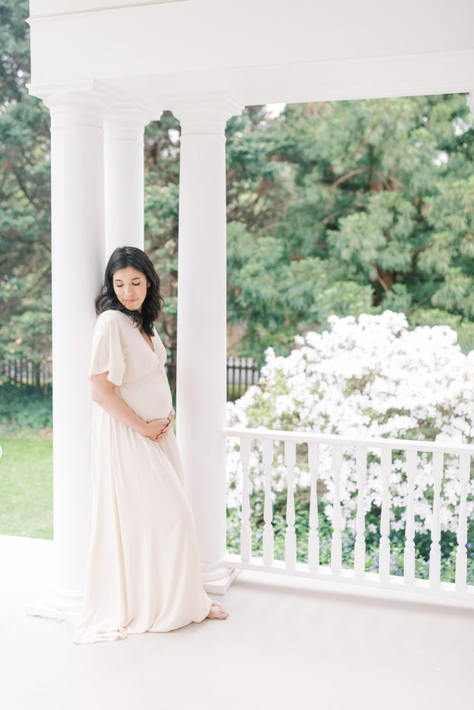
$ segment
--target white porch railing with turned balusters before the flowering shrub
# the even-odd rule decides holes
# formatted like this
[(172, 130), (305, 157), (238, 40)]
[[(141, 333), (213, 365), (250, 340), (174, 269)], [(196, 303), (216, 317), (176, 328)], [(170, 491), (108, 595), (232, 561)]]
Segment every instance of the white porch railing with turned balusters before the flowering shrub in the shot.
[[(470, 461), (474, 461), (474, 445), (448, 445), (426, 441), (405, 439), (363, 439), (345, 438), (336, 435), (318, 435), (308, 432), (287, 432), (275, 430), (252, 430), (226, 427), (225, 437), (239, 440), (239, 459), (242, 475), (242, 503), (240, 528), (240, 554), (227, 554), (227, 567), (254, 569), (298, 577), (311, 577), (345, 583), (359, 584), (379, 589), (394, 589), (429, 596), (444, 597), (446, 600), (470, 600), (474, 603), (474, 586), (467, 583), (468, 520), (466, 503), (470, 481)], [(252, 442), (259, 442), (264, 471), (264, 530), (262, 556), (252, 555), (252, 526), (249, 495), (249, 467)], [(286, 534), (284, 560), (274, 559), (274, 529), (272, 525), (272, 463), (274, 444), (284, 444), (284, 466), (286, 469)], [(294, 476), (296, 465), (296, 445), (308, 447), (308, 469), (311, 474), (310, 508), (308, 517), (308, 562), (296, 562), (296, 532), (294, 507)], [(330, 564), (320, 564), (320, 535), (318, 530), (318, 465), (321, 445), (332, 449), (333, 515), (330, 546)], [(348, 447), (355, 455), (357, 478), (357, 511), (355, 516), (354, 564), (346, 569), (342, 564), (342, 515), (340, 506), (340, 471), (344, 452)], [(366, 572), (365, 555), (365, 511), (364, 496), (367, 475), (367, 453), (374, 449), (380, 453), (380, 477), (382, 506), (380, 516), (379, 566), (378, 572)], [(406, 480), (408, 485), (407, 504), (404, 518), (404, 573), (390, 574), (390, 506), (391, 496), (389, 476), (392, 466), (392, 452), (406, 452)], [(354, 454), (355, 452), (355, 454)], [(429, 557), (429, 578), (415, 576), (415, 515), (414, 491), (416, 486), (417, 456), (419, 452), (429, 452), (433, 475), (433, 505), (431, 519), (431, 550)], [(456, 581), (441, 581), (441, 523), (440, 501), (443, 482), (444, 455), (459, 457), (458, 480), (458, 530), (456, 549)], [(255, 455), (255, 454), (253, 454)]]

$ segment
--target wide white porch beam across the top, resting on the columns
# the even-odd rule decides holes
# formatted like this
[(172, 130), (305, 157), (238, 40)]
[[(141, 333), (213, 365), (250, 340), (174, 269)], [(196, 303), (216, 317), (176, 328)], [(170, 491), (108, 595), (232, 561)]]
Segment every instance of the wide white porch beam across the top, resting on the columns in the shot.
[(474, 89), (471, 0), (31, 0), (33, 87), (99, 80), (166, 109)]

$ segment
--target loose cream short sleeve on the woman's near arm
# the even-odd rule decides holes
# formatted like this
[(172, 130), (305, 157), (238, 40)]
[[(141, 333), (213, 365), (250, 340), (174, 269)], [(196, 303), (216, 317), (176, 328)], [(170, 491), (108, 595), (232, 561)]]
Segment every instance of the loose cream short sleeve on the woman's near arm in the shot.
[(92, 354), (87, 377), (107, 372), (107, 379), (120, 386), (125, 374), (126, 335), (122, 314), (104, 311), (97, 318), (92, 336)]

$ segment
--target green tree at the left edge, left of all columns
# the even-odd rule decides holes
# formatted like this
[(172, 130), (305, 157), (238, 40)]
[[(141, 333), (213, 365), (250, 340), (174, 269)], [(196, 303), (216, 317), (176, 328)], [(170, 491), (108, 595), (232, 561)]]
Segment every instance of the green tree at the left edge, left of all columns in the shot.
[(0, 6), (0, 358), (50, 351), (49, 112), (25, 87), (27, 0)]

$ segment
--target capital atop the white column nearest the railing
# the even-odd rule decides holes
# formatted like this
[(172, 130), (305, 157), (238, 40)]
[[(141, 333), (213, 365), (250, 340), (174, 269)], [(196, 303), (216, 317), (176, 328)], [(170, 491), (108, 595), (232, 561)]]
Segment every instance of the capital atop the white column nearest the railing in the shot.
[(181, 136), (189, 133), (223, 136), (226, 122), (244, 109), (225, 92), (161, 97), (161, 103), (180, 121)]

